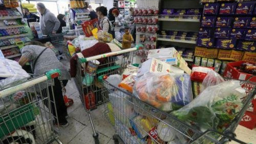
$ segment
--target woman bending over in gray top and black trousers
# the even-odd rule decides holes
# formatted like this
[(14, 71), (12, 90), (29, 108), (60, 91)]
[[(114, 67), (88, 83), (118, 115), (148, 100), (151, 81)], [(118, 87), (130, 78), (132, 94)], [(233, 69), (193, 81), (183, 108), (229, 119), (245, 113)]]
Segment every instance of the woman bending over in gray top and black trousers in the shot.
[[(19, 64), (24, 66), (29, 62), (33, 73), (38, 76), (44, 75), (47, 71), (58, 68), (61, 71), (63, 86), (66, 86), (70, 79), (70, 75), (64, 65), (56, 58), (55, 53), (50, 48), (44, 47), (40, 42), (31, 41), (30, 44), (31, 45), (24, 46), (21, 49), (22, 56), (19, 60)], [(41, 89), (44, 89), (42, 90), (42, 93), (46, 93), (46, 84), (41, 83), (40, 87)], [(49, 86), (49, 90), (51, 90), (51, 86)], [(67, 107), (64, 103), (61, 82), (58, 78), (54, 78), (53, 92), (57, 111), (55, 111), (54, 103), (51, 103), (52, 113), (54, 116), (58, 116), (60, 126), (68, 126), (69, 123), (66, 119)], [(49, 95), (51, 101), (53, 101), (52, 93), (50, 92)], [(48, 106), (47, 103), (45, 104)]]

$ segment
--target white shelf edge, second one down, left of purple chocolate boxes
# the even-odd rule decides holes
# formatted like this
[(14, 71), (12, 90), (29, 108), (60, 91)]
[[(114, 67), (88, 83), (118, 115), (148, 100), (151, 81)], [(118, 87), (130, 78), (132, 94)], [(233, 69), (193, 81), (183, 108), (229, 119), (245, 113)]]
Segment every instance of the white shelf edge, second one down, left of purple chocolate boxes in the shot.
[(189, 37), (181, 37), (181, 36), (163, 36), (157, 35), (158, 41), (172, 41), (172, 42), (179, 42), (179, 43), (192, 43), (196, 44), (197, 38), (189, 38)]

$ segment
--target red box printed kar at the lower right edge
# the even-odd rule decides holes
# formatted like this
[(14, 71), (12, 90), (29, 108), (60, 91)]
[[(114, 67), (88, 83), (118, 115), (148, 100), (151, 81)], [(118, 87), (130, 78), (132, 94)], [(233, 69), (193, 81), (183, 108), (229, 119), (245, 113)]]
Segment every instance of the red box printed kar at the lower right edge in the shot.
[(239, 124), (252, 130), (256, 125), (256, 114), (245, 112)]

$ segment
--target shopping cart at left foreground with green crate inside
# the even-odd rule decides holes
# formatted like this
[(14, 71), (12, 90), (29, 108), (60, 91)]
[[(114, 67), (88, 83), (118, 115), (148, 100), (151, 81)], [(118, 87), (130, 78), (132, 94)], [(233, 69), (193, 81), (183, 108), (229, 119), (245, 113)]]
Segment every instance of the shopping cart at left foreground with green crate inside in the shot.
[[(0, 90), (0, 143), (48, 144), (58, 139), (58, 118), (52, 115), (56, 105), (53, 78), (59, 70), (51, 70), (44, 76), (27, 79)], [(51, 86), (51, 89), (48, 88)], [(50, 106), (52, 104), (52, 106)]]

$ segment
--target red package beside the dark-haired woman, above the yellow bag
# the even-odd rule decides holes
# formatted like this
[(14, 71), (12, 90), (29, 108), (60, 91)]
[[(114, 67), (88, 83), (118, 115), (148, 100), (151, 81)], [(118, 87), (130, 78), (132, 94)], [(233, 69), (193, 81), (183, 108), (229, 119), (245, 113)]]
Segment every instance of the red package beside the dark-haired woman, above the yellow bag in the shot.
[(98, 19), (93, 19), (93, 20), (90, 20), (90, 21), (85, 21), (82, 24), (82, 29), (83, 29), (84, 34), (85, 34), (86, 37), (92, 36), (92, 30), (94, 28), (98, 28), (100, 30)]

